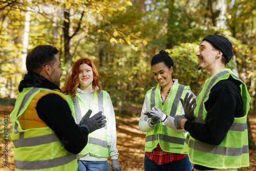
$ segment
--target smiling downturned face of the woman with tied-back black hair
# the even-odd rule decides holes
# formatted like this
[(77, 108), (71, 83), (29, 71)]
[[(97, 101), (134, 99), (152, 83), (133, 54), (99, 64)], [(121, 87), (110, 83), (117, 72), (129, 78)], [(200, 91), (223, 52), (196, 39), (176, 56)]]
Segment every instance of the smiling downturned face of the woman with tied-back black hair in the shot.
[(164, 88), (168, 87), (170, 88), (173, 84), (172, 80), (172, 72), (173, 67), (170, 67), (170, 69), (164, 64), (164, 62), (157, 63), (156, 65), (153, 65), (152, 72), (154, 74), (154, 78), (159, 83), (159, 85)]

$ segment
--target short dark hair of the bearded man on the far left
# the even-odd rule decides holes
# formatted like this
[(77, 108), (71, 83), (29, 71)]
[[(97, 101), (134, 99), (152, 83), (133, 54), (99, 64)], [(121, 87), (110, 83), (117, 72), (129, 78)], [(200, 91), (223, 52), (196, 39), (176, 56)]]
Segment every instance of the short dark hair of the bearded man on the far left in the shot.
[(56, 61), (54, 57), (59, 51), (51, 45), (39, 45), (35, 47), (26, 59), (26, 67), (28, 72), (40, 72), (45, 65), (53, 66)]

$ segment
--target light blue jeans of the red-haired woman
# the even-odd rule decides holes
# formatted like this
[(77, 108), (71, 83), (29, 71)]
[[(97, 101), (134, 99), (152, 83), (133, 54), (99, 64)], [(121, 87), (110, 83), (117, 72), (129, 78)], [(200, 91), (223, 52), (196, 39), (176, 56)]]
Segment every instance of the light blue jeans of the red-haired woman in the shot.
[(108, 161), (78, 160), (78, 171), (110, 171)]

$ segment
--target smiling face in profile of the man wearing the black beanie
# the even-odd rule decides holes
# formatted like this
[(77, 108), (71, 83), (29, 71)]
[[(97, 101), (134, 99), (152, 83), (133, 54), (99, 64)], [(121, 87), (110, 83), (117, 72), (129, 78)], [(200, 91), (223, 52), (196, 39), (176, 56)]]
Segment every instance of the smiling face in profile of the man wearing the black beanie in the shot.
[(196, 54), (198, 58), (198, 70), (211, 70), (216, 59), (216, 54), (216, 49), (212, 47), (210, 42), (204, 40)]

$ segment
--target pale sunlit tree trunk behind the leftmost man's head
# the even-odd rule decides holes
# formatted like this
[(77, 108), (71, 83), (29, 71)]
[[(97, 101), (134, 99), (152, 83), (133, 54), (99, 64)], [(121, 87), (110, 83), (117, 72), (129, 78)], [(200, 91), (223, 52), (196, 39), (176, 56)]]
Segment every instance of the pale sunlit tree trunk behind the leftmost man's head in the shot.
[[(31, 4), (30, 1), (28, 1)], [(22, 72), (23, 74), (26, 73), (26, 57), (28, 53), (28, 45), (29, 45), (29, 30), (30, 30), (30, 15), (31, 9), (27, 7), (27, 12), (25, 14), (25, 27), (24, 27), (24, 34), (23, 34), (23, 49), (22, 49)]]

